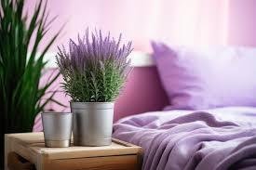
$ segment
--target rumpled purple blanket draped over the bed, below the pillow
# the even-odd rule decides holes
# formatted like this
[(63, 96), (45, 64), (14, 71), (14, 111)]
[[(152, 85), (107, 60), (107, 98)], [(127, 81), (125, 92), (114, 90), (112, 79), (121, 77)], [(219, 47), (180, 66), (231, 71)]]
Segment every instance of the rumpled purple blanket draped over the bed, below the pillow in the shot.
[(142, 147), (144, 170), (256, 169), (256, 108), (148, 112), (113, 136)]

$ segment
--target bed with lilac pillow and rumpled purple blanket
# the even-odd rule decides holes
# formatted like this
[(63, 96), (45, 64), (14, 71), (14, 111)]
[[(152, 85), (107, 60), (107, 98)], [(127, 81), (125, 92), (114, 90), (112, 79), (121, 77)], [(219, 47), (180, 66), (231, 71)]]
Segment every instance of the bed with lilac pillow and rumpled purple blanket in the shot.
[(144, 170), (256, 169), (256, 49), (153, 49), (168, 105), (120, 119), (113, 136), (142, 147)]

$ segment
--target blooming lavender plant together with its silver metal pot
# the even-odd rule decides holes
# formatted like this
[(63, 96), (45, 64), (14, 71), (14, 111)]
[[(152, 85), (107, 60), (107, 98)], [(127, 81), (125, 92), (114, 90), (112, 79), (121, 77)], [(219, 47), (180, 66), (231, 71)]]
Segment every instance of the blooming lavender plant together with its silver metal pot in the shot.
[(72, 98), (74, 145), (111, 144), (115, 98), (130, 71), (131, 42), (121, 45), (100, 31), (69, 42), (69, 52), (59, 47), (57, 64), (63, 88)]

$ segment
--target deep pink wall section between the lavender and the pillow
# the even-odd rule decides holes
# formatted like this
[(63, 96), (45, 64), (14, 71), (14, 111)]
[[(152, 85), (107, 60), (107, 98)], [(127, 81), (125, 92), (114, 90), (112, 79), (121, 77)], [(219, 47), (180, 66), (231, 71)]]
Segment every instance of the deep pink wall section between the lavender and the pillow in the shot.
[(159, 82), (155, 67), (135, 68), (123, 93), (115, 102), (115, 121), (130, 114), (161, 111), (168, 98)]

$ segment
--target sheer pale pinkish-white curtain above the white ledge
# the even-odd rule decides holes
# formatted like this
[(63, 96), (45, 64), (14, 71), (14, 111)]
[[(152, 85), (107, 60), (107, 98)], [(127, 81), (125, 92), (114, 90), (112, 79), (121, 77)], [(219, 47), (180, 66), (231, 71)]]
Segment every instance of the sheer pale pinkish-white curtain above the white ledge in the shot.
[[(29, 6), (34, 5), (34, 1)], [(58, 15), (53, 31), (66, 23), (57, 44), (64, 44), (88, 26), (114, 35), (123, 33), (136, 49), (151, 50), (150, 40), (177, 45), (223, 45), (228, 0), (61, 0), (48, 1)]]

